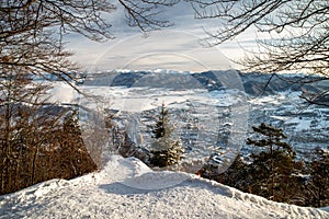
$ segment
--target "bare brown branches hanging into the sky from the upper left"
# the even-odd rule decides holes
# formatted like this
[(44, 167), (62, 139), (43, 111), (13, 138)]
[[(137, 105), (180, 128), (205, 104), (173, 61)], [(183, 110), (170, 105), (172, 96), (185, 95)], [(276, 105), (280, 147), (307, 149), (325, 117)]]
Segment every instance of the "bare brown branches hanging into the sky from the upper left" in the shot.
[(20, 68), (22, 72), (52, 73), (70, 83), (77, 65), (67, 58), (63, 36), (78, 33), (91, 41), (113, 38), (107, 14), (124, 8), (127, 23), (141, 31), (170, 25), (159, 16), (178, 0), (4, 0), (0, 2), (0, 71)]

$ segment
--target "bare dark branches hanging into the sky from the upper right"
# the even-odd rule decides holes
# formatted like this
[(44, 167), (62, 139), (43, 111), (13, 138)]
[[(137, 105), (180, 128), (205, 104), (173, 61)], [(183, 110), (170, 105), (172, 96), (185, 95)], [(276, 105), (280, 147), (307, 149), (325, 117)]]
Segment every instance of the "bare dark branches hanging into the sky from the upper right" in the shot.
[[(294, 71), (307, 76), (302, 83), (329, 77), (329, 2), (326, 0), (191, 0), (196, 19), (218, 20), (215, 33), (207, 31), (209, 45), (230, 41), (247, 30), (269, 33), (259, 39), (259, 49), (240, 64), (260, 72)], [(329, 105), (328, 85), (304, 93), (309, 103)]]

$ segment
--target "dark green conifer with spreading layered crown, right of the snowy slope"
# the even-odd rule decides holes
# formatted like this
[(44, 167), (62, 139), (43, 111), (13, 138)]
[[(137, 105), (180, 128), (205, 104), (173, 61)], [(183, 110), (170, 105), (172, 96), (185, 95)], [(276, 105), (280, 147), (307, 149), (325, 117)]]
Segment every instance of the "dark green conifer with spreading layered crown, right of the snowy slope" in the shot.
[(294, 182), (293, 173), (296, 171), (295, 151), (283, 141), (286, 136), (282, 129), (264, 123), (252, 129), (258, 138), (248, 138), (247, 145), (260, 147), (262, 150), (252, 154), (250, 191), (272, 200), (290, 201), (290, 185)]

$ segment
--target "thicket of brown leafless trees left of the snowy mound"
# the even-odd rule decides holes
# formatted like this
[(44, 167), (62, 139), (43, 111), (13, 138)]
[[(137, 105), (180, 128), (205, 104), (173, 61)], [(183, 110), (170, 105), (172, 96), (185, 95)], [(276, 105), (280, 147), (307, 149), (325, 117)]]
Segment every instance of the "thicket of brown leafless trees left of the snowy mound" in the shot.
[(0, 73), (0, 194), (98, 168), (82, 141), (76, 111), (49, 104), (48, 85), (31, 77)]

